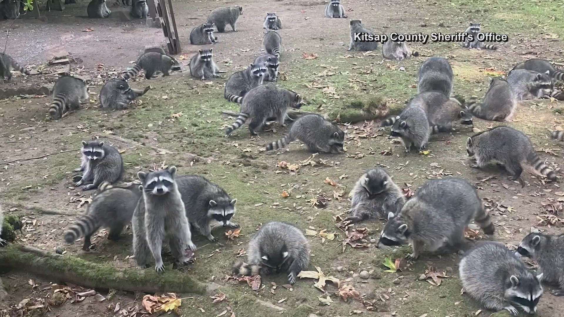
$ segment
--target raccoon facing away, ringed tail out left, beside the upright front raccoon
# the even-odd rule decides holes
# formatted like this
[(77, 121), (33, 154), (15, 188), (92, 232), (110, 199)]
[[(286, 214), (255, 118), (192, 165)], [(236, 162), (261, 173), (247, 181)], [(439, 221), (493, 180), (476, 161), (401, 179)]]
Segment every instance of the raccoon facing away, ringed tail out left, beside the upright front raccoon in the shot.
[(65, 241), (73, 244), (75, 240), (84, 237), (82, 250), (88, 251), (91, 249), (90, 237), (100, 227), (109, 229), (108, 240), (119, 239), (123, 228), (131, 222), (140, 197), (139, 184), (111, 186), (104, 181), (92, 202), (86, 206), (85, 214), (65, 229)]

